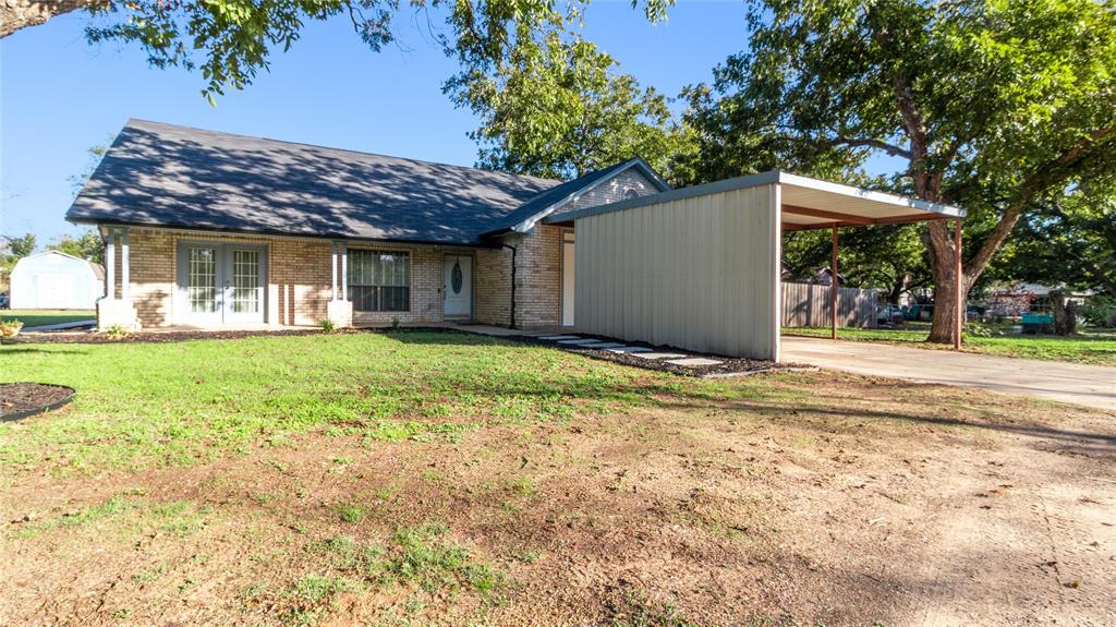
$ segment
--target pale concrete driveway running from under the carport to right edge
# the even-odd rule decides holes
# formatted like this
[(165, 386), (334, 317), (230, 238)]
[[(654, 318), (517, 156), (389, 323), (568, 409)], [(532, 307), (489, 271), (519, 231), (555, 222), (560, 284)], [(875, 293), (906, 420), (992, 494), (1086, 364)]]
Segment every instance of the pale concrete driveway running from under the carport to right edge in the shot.
[(866, 341), (782, 337), (782, 360), (821, 368), (1026, 394), (1116, 412), (1116, 368)]

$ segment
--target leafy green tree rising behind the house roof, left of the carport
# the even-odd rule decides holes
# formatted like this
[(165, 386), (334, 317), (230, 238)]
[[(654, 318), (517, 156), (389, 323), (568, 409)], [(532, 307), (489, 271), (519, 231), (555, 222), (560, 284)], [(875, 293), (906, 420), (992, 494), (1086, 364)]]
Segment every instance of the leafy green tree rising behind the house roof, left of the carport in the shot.
[(444, 89), (481, 119), (478, 165), (569, 179), (642, 156), (666, 172), (684, 144), (666, 98), (562, 23), (517, 25), (496, 62), (462, 55)]

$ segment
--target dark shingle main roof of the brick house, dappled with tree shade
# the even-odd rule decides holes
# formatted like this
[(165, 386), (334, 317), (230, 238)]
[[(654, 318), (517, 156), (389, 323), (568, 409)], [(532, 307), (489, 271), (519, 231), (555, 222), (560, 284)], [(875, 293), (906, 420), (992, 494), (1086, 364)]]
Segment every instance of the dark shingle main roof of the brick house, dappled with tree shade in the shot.
[(470, 244), (556, 185), (562, 186), (532, 176), (129, 120), (66, 218)]

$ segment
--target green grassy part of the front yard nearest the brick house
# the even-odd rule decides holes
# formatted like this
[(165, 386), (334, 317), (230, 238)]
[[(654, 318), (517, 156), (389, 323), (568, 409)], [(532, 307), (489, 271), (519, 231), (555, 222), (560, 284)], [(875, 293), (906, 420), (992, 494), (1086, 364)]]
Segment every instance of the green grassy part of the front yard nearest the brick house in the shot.
[(565, 351), (449, 332), (338, 334), (180, 344), (0, 346), (0, 380), (69, 385), (71, 411), (0, 431), (0, 465), (189, 464), (282, 446), (315, 427), (368, 441), (454, 438), (720, 394), (723, 386)]

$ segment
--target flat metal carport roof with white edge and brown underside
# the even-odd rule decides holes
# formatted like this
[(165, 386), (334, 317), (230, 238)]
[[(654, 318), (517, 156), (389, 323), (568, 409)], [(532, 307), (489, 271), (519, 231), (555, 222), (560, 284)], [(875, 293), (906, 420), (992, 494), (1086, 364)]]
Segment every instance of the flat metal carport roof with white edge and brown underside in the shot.
[(545, 221), (547, 223), (570, 222), (589, 215), (771, 184), (781, 186), (782, 228), (785, 231), (828, 229), (834, 225), (870, 226), (873, 224), (964, 218), (965, 215), (964, 210), (956, 206), (863, 190), (773, 170), (600, 206), (555, 213)]

